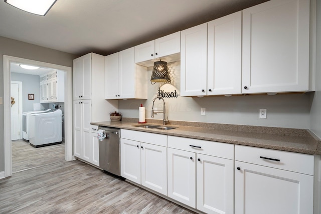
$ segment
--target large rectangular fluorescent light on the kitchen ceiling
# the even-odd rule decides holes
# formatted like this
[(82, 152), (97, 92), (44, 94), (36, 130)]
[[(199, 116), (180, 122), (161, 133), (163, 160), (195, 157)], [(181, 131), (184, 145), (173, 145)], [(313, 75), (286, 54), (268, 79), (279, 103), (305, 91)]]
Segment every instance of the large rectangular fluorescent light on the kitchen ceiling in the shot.
[(57, 0), (5, 0), (6, 3), (32, 14), (45, 16)]

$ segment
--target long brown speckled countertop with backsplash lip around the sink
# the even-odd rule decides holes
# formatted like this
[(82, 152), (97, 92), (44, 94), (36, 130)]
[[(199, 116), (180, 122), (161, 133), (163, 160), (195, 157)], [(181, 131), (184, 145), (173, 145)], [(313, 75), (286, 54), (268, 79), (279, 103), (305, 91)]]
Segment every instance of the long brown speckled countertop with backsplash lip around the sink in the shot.
[[(321, 154), (321, 140), (305, 129), (171, 121), (166, 126), (178, 128), (157, 130), (133, 126), (138, 125), (137, 120), (122, 118), (119, 122), (103, 121), (91, 124), (305, 154)], [(147, 120), (146, 124), (162, 125), (160, 122)]]

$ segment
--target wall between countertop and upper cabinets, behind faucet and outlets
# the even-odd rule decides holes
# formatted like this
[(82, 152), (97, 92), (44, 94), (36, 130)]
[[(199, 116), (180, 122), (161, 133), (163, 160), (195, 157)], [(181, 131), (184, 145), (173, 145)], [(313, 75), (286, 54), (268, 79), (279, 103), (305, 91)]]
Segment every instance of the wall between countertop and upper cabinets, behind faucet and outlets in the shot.
[[(180, 93), (180, 62), (169, 63), (172, 84), (165, 84), (162, 90)], [(148, 68), (150, 80), (152, 67)], [(119, 100), (118, 109), (123, 117), (138, 118), (138, 107), (142, 103), (146, 107), (145, 117), (150, 118), (152, 99), (156, 96), (159, 84), (148, 84), (147, 100)], [(277, 94), (250, 96), (209, 96), (209, 97), (181, 97), (165, 98), (169, 120), (194, 121), (208, 123), (254, 125), (286, 128), (309, 128), (309, 112), (313, 92), (305, 94)], [(163, 109), (161, 101), (155, 105)], [(201, 107), (206, 108), (206, 115), (201, 116)], [(259, 109), (267, 109), (267, 118), (259, 118)], [(158, 114), (155, 119), (163, 119)]]

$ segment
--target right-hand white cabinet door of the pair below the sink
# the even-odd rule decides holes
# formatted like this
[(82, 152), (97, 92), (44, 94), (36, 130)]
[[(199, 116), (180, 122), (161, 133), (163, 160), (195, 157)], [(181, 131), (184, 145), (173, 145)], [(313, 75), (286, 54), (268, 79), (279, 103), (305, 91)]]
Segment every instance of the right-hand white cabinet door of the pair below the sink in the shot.
[(141, 185), (167, 195), (167, 149), (141, 143)]

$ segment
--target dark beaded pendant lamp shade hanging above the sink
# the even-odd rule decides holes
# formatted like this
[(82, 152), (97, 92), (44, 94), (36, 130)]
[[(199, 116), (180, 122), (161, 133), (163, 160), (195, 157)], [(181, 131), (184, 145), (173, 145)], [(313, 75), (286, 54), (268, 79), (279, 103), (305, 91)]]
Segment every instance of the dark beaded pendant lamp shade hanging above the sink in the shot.
[(167, 62), (160, 60), (158, 62), (154, 62), (150, 83), (155, 84), (156, 82), (171, 82)]

